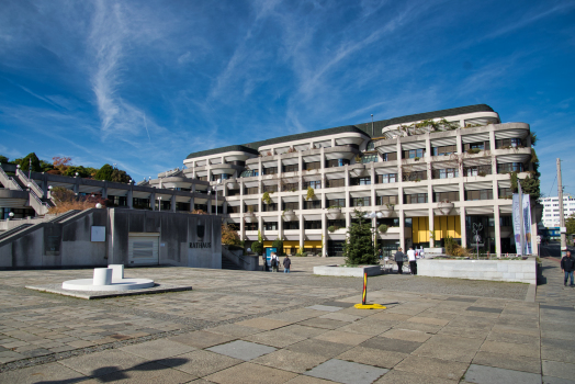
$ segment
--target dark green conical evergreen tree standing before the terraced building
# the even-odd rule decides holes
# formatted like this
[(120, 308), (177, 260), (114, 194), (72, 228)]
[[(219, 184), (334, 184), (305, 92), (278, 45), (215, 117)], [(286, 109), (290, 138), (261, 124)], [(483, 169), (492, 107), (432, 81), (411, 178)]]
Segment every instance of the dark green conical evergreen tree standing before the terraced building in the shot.
[(371, 221), (363, 217), (358, 210), (353, 213), (356, 222), (348, 228), (348, 239), (343, 245), (343, 256), (347, 264), (376, 264), (373, 247)]

